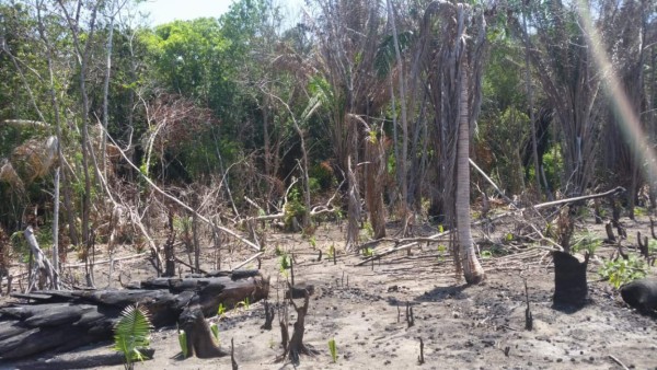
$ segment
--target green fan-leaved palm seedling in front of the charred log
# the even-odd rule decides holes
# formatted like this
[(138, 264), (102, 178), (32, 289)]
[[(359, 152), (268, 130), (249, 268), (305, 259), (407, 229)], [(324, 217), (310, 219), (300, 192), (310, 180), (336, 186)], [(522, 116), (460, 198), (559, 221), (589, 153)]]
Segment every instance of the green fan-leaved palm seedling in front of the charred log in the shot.
[(128, 305), (114, 325), (114, 349), (125, 356), (125, 369), (134, 369), (135, 360), (143, 361), (141, 350), (148, 347), (153, 328), (148, 311)]

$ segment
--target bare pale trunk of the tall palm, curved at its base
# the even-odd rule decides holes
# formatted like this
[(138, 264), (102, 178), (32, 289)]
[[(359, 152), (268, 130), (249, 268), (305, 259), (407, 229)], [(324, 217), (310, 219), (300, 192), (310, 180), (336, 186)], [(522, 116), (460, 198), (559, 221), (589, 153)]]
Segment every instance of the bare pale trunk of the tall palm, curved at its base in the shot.
[[(466, 65), (461, 63), (462, 67)], [(468, 284), (479, 284), (485, 278), (484, 269), (476, 258), (472, 231), (470, 230), (470, 124), (468, 108), (468, 70), (461, 70), (461, 99), (459, 102), (459, 136), (457, 141), (457, 230), (460, 262)]]

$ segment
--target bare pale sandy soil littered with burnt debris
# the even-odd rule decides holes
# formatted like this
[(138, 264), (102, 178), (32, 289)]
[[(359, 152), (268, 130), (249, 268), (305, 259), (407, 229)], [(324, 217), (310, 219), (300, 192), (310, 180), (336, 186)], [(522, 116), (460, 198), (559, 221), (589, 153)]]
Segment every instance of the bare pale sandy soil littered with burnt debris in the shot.
[[(649, 235), (647, 218), (625, 219), (627, 234), (641, 231)], [(367, 266), (356, 267), (362, 256), (345, 254), (343, 233), (337, 226), (320, 227), (315, 246), (299, 234), (272, 231), (262, 270), (272, 277), (272, 303), (283, 302), (280, 257), (275, 250), (293, 254), (295, 280), (314, 286), (306, 319), (304, 343), (320, 351), (302, 356), (299, 369), (657, 369), (657, 321), (629, 309), (607, 281), (600, 281), (600, 261), (609, 258), (613, 246), (602, 246), (589, 264), (590, 303), (576, 311), (552, 308), (554, 271), (552, 258), (544, 250), (506, 243), (504, 236), (514, 224), (498, 227), (493, 240), (499, 245), (493, 256), (483, 259), (487, 273), (485, 284), (464, 286), (454, 278), (453, 262), (445, 248), (447, 243), (422, 243), (411, 251), (389, 255)], [(603, 228), (592, 220), (578, 226), (603, 238)], [(394, 228), (391, 229), (394, 232)], [(416, 234), (431, 234), (425, 228)], [(495, 235), (495, 234), (494, 234)], [(330, 245), (338, 251), (336, 264), (326, 258)], [(392, 244), (381, 243), (377, 251)], [(624, 245), (636, 245), (625, 241)], [(318, 261), (319, 251), (323, 252)], [(212, 251), (204, 251), (208, 262)], [(126, 255), (134, 251), (125, 251)], [(232, 261), (222, 268), (235, 266), (251, 251), (233, 252)], [(631, 252), (635, 253), (635, 252)], [(487, 255), (487, 253), (485, 254)], [(102, 257), (100, 257), (102, 258)], [(100, 259), (99, 258), (99, 259)], [(152, 276), (143, 259), (122, 262), (123, 280)], [(253, 263), (251, 268), (256, 267)], [(106, 276), (97, 267), (96, 276)], [(653, 270), (650, 275), (655, 275)], [(128, 274), (129, 273), (129, 274)], [(533, 314), (533, 331), (525, 329), (525, 285)], [(283, 304), (283, 303), (278, 303)], [(406, 305), (413, 309), (414, 325), (408, 327)], [(289, 331), (296, 321), (289, 309)], [(221, 347), (230, 351), (234, 339), (235, 360), (240, 369), (292, 369), (292, 365), (275, 362), (283, 352), (278, 312), (274, 329), (261, 329), (265, 321), (262, 302), (231, 311), (218, 322)], [(327, 343), (337, 345), (337, 362), (333, 363)], [(424, 365), (418, 363), (419, 339), (424, 342)], [(230, 357), (201, 360), (181, 359), (175, 327), (158, 329), (152, 335), (154, 359), (138, 363), (137, 369), (230, 369)], [(111, 344), (97, 344), (56, 358), (74, 358), (112, 351)], [(50, 359), (51, 357), (48, 357)], [(43, 358), (46, 360), (47, 358)], [(618, 361), (618, 362), (616, 362)], [(622, 362), (620, 365), (619, 362)], [(13, 367), (15, 365), (10, 366)], [(120, 369), (105, 367), (103, 369)]]

